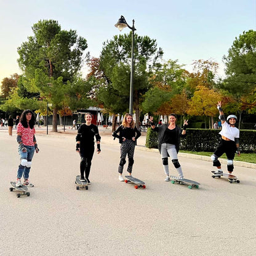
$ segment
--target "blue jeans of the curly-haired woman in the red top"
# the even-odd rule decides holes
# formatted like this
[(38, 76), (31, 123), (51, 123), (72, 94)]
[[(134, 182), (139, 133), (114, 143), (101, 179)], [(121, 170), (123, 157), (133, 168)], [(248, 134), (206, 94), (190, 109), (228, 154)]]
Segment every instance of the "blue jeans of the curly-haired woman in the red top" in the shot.
[(18, 166), (17, 178), (22, 178), (23, 175), (25, 179), (28, 179), (30, 175), (31, 161), (34, 156), (34, 146), (25, 146), (25, 148), (26, 152), (22, 152), (20, 146), (18, 147), (18, 154), (20, 155), (21, 164)]

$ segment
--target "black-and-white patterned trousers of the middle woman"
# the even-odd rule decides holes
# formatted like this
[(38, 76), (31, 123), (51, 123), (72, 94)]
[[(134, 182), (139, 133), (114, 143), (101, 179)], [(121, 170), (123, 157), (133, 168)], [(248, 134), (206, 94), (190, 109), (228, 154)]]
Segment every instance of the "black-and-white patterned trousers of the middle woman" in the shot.
[(132, 166), (134, 164), (134, 149), (135, 149), (135, 142), (133, 140), (125, 140), (122, 142), (120, 146), (121, 156), (120, 156), (120, 163), (118, 167), (119, 174), (122, 174), (124, 170), (124, 164), (126, 163), (126, 154), (128, 154), (128, 167), (127, 172), (129, 174), (132, 173)]

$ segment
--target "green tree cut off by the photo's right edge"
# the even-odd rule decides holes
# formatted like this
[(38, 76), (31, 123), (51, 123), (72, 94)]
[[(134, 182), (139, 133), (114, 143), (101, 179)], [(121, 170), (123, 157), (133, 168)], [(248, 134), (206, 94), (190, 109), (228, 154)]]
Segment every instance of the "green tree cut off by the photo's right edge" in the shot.
[(256, 85), (256, 31), (244, 31), (236, 38), (223, 57), (227, 78), (221, 88), (238, 103), (239, 126), (243, 110), (255, 113)]

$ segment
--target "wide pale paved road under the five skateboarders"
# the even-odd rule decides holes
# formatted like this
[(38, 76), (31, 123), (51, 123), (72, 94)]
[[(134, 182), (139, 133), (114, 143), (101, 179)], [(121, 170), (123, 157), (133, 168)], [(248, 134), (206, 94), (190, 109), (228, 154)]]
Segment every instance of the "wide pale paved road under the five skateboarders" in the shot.
[(17, 198), (17, 142), (0, 132), (0, 255), (255, 255), (255, 169), (237, 167), (241, 183), (230, 184), (211, 177), (210, 162), (180, 156), (185, 177), (201, 183), (189, 190), (164, 182), (159, 153), (138, 147), (133, 174), (146, 189), (135, 190), (118, 181), (118, 142), (102, 138), (92, 184), (77, 191), (74, 137), (37, 135), (35, 186)]

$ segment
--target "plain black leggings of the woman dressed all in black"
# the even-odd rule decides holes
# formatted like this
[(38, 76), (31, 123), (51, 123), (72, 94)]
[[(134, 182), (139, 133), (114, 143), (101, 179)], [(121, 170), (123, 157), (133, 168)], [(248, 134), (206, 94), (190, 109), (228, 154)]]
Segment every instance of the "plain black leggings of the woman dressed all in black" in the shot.
[(80, 149), (80, 175), (84, 177), (86, 174), (86, 178), (89, 178), (90, 174), (90, 166), (92, 165), (92, 157), (94, 156), (94, 145), (87, 146), (87, 148)]

